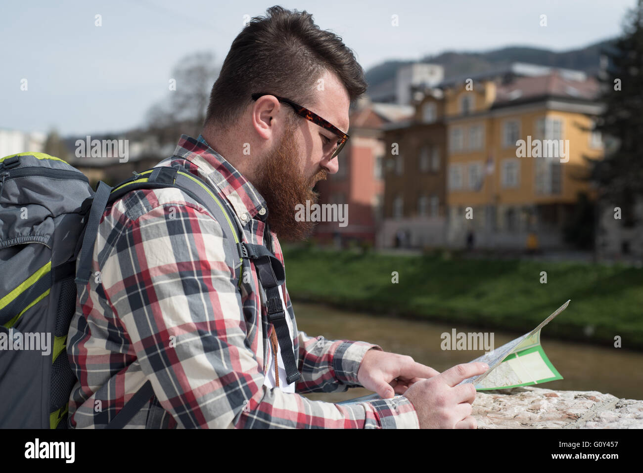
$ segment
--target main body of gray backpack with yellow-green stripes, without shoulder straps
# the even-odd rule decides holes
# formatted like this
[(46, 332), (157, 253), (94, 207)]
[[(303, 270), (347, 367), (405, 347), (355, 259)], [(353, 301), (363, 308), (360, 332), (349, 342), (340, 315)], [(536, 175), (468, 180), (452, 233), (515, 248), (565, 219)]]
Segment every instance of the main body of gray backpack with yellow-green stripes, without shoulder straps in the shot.
[(0, 428), (66, 427), (80, 209), (93, 193), (57, 157), (0, 160)]

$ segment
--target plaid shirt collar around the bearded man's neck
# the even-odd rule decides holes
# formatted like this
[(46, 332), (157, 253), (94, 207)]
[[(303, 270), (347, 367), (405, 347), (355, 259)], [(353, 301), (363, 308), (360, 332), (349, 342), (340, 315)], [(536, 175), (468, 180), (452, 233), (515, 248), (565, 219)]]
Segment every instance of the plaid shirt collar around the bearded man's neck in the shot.
[(181, 135), (174, 156), (190, 161), (198, 168), (199, 174), (212, 181), (228, 199), (244, 226), (251, 219), (266, 220), (268, 211), (264, 198), (248, 179), (208, 145), (203, 136), (194, 139)]

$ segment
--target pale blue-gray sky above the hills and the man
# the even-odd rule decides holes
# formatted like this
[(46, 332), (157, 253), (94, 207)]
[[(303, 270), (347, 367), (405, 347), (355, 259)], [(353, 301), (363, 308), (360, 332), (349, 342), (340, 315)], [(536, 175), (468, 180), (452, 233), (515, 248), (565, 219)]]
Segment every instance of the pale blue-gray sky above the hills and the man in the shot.
[(55, 127), (64, 136), (84, 136), (140, 126), (171, 93), (168, 80), (182, 57), (212, 51), (221, 64), (244, 19), (273, 4), (312, 13), (368, 69), (445, 50), (581, 48), (619, 35), (636, 0), (3, 2), (0, 129)]

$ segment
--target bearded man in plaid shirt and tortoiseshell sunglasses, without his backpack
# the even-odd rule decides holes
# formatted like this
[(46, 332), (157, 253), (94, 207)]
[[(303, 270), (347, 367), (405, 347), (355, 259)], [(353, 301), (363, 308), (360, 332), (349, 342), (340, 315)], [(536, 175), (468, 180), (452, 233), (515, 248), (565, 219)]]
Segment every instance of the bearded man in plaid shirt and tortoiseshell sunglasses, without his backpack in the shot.
[[(350, 49), (311, 15), (268, 13), (234, 40), (201, 136), (182, 136), (159, 165), (203, 179), (230, 206), (244, 241), (283, 263), (277, 237), (311, 230), (295, 220), (295, 206), (315, 201), (314, 184), (338, 171), (349, 105), (366, 84)], [(297, 330), (284, 283), (300, 373), (287, 382), (257, 268), (246, 268), (238, 290), (223, 225), (175, 188), (133, 191), (107, 207), (93, 255), (100, 278), (79, 293), (69, 330), (72, 427), (105, 427), (147, 381), (154, 396), (127, 427), (476, 426), (475, 389), (456, 385), (482, 364), (440, 374), (374, 344), (309, 337)], [(301, 395), (350, 386), (384, 399), (340, 406)]]

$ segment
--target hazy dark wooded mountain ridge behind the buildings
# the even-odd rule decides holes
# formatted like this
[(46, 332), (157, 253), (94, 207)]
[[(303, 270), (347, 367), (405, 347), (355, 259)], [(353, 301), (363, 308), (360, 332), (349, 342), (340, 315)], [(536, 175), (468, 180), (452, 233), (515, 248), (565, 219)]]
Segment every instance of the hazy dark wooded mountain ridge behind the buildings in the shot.
[[(444, 66), (445, 79), (500, 69), (512, 62), (529, 62), (543, 66), (577, 69), (588, 73), (588, 75), (595, 75), (599, 68), (601, 49), (608, 48), (613, 41), (614, 39), (603, 40), (585, 48), (559, 53), (529, 46), (510, 46), (481, 53), (444, 51), (438, 55), (421, 58), (419, 62), (441, 64)], [(400, 66), (406, 66), (406, 64), (413, 62), (415, 61), (389, 60), (371, 67), (366, 72), (368, 87), (376, 87), (387, 80), (392, 80)]]

